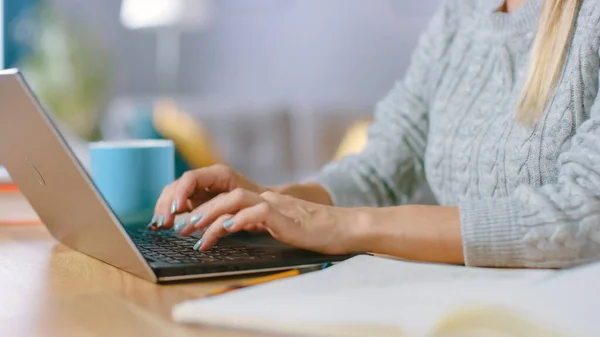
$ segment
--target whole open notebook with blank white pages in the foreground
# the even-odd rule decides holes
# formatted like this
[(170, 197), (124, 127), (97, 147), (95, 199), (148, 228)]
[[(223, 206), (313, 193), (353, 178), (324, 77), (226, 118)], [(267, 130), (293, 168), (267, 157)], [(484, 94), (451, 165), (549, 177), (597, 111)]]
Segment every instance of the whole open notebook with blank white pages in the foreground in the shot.
[[(600, 264), (467, 268), (361, 255), (176, 305), (177, 322), (293, 336), (600, 336)], [(488, 333), (486, 335), (486, 333)]]

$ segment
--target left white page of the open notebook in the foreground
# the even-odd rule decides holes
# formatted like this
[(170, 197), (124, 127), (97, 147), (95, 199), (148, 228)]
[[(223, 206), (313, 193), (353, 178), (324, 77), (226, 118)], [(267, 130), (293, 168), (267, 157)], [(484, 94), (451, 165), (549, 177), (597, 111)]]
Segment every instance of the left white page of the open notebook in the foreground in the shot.
[(376, 326), (382, 334), (416, 336), (459, 304), (500, 301), (551, 273), (357, 256), (320, 272), (184, 302), (173, 318), (306, 335), (361, 336), (359, 327)]

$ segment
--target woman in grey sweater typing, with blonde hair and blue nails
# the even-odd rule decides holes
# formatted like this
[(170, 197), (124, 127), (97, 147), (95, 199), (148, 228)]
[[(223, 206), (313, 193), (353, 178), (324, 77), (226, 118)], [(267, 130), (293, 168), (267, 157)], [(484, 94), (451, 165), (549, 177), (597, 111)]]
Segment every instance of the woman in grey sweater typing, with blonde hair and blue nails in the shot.
[[(224, 166), (165, 188), (154, 228), (494, 267), (600, 259), (600, 1), (448, 0), (364, 151), (265, 187)], [(425, 179), (442, 206), (406, 204)]]

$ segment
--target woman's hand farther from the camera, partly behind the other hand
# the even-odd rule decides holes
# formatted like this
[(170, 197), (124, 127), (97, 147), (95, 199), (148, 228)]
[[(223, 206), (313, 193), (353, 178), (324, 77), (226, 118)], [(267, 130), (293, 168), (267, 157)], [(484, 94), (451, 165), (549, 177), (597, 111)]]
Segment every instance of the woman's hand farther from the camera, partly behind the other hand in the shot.
[[(163, 189), (156, 203), (154, 217), (148, 227), (172, 228), (175, 215), (190, 212), (217, 195), (231, 192), (236, 188), (259, 194), (268, 191), (267, 188), (251, 182), (225, 165), (219, 164), (188, 171)], [(193, 221), (193, 217), (187, 220)], [(184, 225), (181, 224), (181, 227)]]

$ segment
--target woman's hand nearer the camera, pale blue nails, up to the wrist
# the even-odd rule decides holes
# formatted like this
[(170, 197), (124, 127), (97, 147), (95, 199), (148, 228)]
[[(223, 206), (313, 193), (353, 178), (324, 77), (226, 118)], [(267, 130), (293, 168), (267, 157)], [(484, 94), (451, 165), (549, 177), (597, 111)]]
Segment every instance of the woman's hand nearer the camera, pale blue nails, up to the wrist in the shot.
[[(354, 251), (351, 234), (357, 210), (325, 206), (274, 192), (245, 189), (222, 193), (189, 215), (182, 235), (204, 230), (200, 250), (208, 250), (227, 233), (256, 228), (267, 230), (286, 244), (325, 254)], [(195, 216), (195, 217), (194, 217)]]

